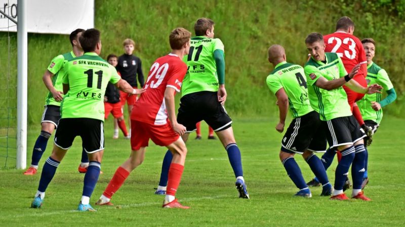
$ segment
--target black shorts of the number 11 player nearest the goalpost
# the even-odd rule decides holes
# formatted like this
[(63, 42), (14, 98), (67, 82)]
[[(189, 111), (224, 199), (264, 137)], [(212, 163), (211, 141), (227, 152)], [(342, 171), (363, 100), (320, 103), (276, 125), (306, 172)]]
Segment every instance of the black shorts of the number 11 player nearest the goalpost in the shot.
[(82, 137), (87, 153), (104, 150), (104, 122), (91, 118), (63, 118), (55, 133), (55, 145), (67, 150), (76, 136)]

